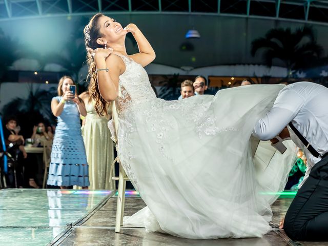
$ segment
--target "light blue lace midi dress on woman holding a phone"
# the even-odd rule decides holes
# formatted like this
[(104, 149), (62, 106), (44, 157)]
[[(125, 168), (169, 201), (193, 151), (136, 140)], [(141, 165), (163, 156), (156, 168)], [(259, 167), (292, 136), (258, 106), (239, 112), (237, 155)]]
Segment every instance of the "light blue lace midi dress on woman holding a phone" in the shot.
[[(61, 100), (61, 96), (54, 98)], [(87, 187), (90, 185), (88, 168), (79, 112), (75, 103), (67, 101), (57, 117), (47, 184)]]

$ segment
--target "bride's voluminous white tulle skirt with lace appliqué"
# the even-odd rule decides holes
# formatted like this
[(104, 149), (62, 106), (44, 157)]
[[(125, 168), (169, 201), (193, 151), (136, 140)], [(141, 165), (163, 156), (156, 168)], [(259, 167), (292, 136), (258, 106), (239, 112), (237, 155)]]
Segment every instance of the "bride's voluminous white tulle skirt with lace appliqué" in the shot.
[(119, 114), (118, 156), (147, 207), (125, 219), (186, 238), (261, 237), (295, 159), (251, 136), (281, 85), (183, 100), (132, 101)]

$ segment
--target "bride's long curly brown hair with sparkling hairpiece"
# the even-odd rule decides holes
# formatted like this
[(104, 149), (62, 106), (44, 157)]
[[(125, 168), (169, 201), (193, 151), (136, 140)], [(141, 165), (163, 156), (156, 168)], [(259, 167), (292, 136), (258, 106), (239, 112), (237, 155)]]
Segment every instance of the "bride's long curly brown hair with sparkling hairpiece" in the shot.
[[(86, 48), (91, 48), (93, 50), (97, 48), (104, 48), (102, 45), (97, 44), (97, 38), (101, 37), (100, 28), (98, 25), (99, 17), (104, 16), (102, 13), (95, 14), (91, 19), (89, 24), (84, 28)], [(95, 110), (98, 115), (107, 115), (109, 103), (101, 97), (98, 88), (98, 76), (96, 73), (96, 63), (92, 54), (87, 52), (87, 64), (88, 64), (88, 77), (90, 78), (89, 84), (89, 95), (95, 101)]]

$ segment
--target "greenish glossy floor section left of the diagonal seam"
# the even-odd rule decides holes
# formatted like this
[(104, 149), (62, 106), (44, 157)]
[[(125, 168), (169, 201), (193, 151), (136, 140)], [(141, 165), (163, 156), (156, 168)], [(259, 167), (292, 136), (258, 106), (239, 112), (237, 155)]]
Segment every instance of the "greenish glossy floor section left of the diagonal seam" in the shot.
[(46, 245), (113, 191), (0, 190), (0, 245)]

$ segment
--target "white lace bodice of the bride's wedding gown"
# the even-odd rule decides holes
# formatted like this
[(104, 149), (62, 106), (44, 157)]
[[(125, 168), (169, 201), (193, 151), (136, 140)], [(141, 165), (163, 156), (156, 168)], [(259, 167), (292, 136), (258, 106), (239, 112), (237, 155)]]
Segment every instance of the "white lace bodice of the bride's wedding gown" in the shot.
[(125, 63), (126, 69), (119, 76), (120, 95), (117, 99), (119, 113), (131, 104), (138, 104), (156, 98), (146, 70), (133, 59), (119, 55)]

